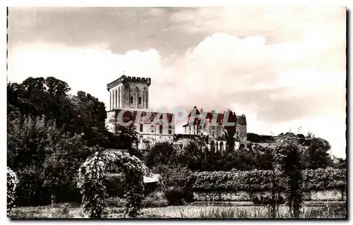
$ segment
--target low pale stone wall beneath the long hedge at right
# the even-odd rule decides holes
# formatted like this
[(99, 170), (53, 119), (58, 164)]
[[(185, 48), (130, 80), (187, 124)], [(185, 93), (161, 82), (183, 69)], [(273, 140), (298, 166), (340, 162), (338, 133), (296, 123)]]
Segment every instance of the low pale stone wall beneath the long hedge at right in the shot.
[[(284, 193), (281, 193), (285, 197)], [(236, 192), (195, 192), (193, 193), (196, 202), (247, 202), (253, 198), (258, 197), (271, 197), (270, 191), (258, 191), (251, 193), (249, 191), (236, 191)], [(304, 201), (342, 201), (346, 200), (346, 193), (340, 189), (333, 190), (312, 190), (310, 193), (304, 193)]]

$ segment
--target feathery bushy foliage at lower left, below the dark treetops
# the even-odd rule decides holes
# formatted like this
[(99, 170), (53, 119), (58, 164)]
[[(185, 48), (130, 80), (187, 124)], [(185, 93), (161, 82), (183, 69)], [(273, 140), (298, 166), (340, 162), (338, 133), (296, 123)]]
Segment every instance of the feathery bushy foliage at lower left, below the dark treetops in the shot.
[[(70, 137), (44, 116), (16, 118), (8, 124), (8, 166), (20, 178), (18, 205), (75, 201), (77, 170), (92, 154), (81, 135)], [(56, 199), (56, 200), (55, 200)]]

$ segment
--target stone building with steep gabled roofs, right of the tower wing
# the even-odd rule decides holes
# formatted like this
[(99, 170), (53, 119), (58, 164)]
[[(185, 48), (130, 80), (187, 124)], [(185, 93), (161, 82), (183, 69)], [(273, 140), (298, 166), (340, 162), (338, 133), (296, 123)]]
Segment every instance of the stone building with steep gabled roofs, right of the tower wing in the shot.
[[(203, 115), (203, 118), (200, 118), (200, 115)], [(246, 116), (244, 114), (237, 116), (230, 110), (229, 114), (208, 112), (203, 109), (199, 110), (195, 106), (188, 116), (188, 123), (183, 128), (184, 133), (189, 135), (207, 135), (209, 149), (222, 152), (227, 147), (225, 126), (227, 122), (232, 121), (236, 123), (235, 150), (237, 150), (239, 145), (246, 142)]]

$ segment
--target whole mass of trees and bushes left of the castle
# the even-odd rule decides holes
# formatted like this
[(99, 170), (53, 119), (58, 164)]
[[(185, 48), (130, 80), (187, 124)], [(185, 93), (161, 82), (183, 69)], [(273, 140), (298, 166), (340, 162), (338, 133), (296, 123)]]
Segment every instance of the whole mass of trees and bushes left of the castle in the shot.
[(68, 95), (69, 90), (52, 77), (7, 85), (7, 162), (20, 178), (20, 205), (48, 204), (51, 196), (57, 202), (80, 198), (77, 169), (92, 154), (89, 147), (126, 143), (124, 134), (105, 128), (103, 102), (85, 92)]

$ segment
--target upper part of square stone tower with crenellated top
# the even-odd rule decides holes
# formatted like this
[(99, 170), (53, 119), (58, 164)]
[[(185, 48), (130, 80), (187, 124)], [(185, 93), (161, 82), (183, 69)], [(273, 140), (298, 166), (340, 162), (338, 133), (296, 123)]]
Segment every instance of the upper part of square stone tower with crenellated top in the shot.
[(107, 85), (109, 109), (148, 109), (148, 87), (151, 78), (122, 75)]

